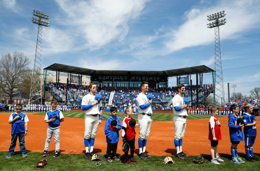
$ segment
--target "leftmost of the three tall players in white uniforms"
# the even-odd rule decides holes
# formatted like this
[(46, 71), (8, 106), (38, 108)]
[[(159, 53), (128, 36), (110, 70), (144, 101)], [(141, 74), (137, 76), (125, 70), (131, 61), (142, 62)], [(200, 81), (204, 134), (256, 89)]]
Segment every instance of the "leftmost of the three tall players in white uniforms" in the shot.
[[(89, 159), (89, 155), (94, 155), (93, 146), (95, 135), (98, 131), (99, 124), (102, 123), (102, 101), (95, 100), (96, 84), (91, 83), (88, 86), (89, 94), (82, 98), (81, 106), (85, 113), (85, 131), (84, 131), (84, 144), (85, 144), (85, 159)], [(90, 148), (88, 150), (88, 146)]]

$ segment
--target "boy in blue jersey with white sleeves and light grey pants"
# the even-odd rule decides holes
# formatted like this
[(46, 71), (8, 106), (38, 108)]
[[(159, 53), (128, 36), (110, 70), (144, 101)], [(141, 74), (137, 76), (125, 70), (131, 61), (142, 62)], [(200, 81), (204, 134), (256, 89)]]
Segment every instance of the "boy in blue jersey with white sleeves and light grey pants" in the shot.
[(51, 100), (51, 110), (48, 111), (45, 115), (45, 122), (48, 123), (47, 128), (47, 138), (45, 142), (43, 157), (46, 157), (49, 155), (48, 149), (51, 142), (52, 134), (54, 135), (54, 141), (55, 141), (55, 154), (54, 158), (59, 156), (59, 128), (60, 128), (60, 122), (64, 121), (63, 114), (56, 109), (57, 108), (57, 100), (53, 99)]

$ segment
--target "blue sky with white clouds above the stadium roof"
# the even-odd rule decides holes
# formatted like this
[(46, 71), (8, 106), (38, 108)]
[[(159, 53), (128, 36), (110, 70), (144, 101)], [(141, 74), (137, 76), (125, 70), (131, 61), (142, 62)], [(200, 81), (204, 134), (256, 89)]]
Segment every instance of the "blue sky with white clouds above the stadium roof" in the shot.
[[(258, 0), (0, 0), (1, 54), (23, 52), (34, 60), (34, 9), (51, 14), (50, 27), (43, 28), (43, 68), (61, 63), (144, 71), (197, 65), (214, 69), (214, 28), (207, 28), (207, 15), (224, 10), (220, 41), (225, 97), (228, 82), (243, 95), (260, 87)], [(212, 75), (203, 81), (212, 83)], [(176, 79), (170, 78), (169, 85), (176, 86)]]

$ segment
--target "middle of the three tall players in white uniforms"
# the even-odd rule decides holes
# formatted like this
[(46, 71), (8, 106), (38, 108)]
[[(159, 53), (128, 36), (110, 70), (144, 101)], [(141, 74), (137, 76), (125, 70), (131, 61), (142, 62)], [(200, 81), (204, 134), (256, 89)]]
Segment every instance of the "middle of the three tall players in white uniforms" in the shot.
[(141, 83), (142, 92), (137, 96), (137, 106), (138, 106), (138, 123), (139, 123), (139, 157), (141, 159), (151, 158), (152, 156), (148, 155), (146, 152), (146, 142), (150, 133), (151, 123), (152, 123), (152, 99), (149, 100), (146, 96), (146, 93), (149, 90), (148, 83)]

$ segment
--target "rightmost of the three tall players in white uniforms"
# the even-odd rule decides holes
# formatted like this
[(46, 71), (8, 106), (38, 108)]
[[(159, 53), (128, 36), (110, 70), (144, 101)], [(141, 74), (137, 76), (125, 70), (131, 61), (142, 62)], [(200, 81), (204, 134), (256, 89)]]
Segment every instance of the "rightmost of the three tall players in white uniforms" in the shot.
[(178, 94), (176, 94), (173, 99), (173, 123), (174, 123), (174, 144), (176, 147), (176, 157), (179, 159), (184, 160), (184, 157), (189, 157), (182, 151), (182, 138), (185, 133), (186, 124), (188, 123), (187, 120), (187, 104), (184, 103), (182, 95), (185, 93), (185, 87), (183, 84), (179, 84), (176, 87)]

